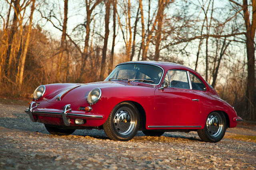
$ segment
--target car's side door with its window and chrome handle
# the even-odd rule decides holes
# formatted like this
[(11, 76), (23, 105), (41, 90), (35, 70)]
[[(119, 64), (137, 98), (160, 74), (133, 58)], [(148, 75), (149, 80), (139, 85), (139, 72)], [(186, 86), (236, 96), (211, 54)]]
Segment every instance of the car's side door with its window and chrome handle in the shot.
[(198, 90), (192, 90), (189, 72), (169, 70), (164, 81), (169, 86), (155, 90), (155, 119), (152, 127), (199, 127), (200, 94)]

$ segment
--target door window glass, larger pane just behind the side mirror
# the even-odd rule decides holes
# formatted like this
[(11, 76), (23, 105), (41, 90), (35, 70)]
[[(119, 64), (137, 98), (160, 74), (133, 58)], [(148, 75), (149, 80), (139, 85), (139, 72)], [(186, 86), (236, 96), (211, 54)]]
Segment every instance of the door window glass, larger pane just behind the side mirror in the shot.
[(168, 72), (170, 79), (170, 86), (176, 88), (188, 88), (188, 76), (186, 71), (182, 70), (170, 70)]

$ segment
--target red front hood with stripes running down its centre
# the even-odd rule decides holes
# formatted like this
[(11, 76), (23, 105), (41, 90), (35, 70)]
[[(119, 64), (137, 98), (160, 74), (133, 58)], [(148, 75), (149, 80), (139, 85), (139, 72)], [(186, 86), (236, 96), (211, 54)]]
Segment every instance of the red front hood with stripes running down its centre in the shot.
[(70, 104), (70, 103), (77, 102), (78, 100), (87, 101), (87, 96), (93, 88), (124, 86), (124, 85), (125, 84), (121, 84), (119, 82), (113, 82), (113, 81), (94, 82), (94, 83), (87, 83), (87, 84), (73, 84), (72, 86), (68, 86), (66, 88), (63, 88), (62, 90), (58, 90), (58, 92), (50, 96), (50, 98), (48, 99), (48, 102)]

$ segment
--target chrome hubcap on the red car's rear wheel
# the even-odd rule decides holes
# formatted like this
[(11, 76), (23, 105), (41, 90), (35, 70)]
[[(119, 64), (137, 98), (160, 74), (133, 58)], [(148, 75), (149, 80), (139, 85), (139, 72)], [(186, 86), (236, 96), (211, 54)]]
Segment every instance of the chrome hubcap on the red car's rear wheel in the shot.
[(212, 137), (218, 137), (223, 129), (223, 120), (218, 115), (212, 113), (207, 117), (207, 131)]

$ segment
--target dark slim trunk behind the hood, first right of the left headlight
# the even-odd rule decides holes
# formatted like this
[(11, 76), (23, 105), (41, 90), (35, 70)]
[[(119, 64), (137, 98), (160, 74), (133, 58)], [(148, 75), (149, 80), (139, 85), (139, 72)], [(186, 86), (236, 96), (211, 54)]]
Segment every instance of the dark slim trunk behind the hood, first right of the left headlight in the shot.
[(65, 50), (64, 43), (65, 43), (65, 39), (66, 39), (67, 20), (68, 20), (68, 0), (64, 0), (64, 20), (63, 20), (63, 26), (62, 26), (60, 54), (59, 54), (59, 59), (58, 59), (58, 68), (57, 68), (57, 75), (56, 75), (56, 80), (58, 82), (60, 82), (61, 62), (62, 62), (63, 52)]

